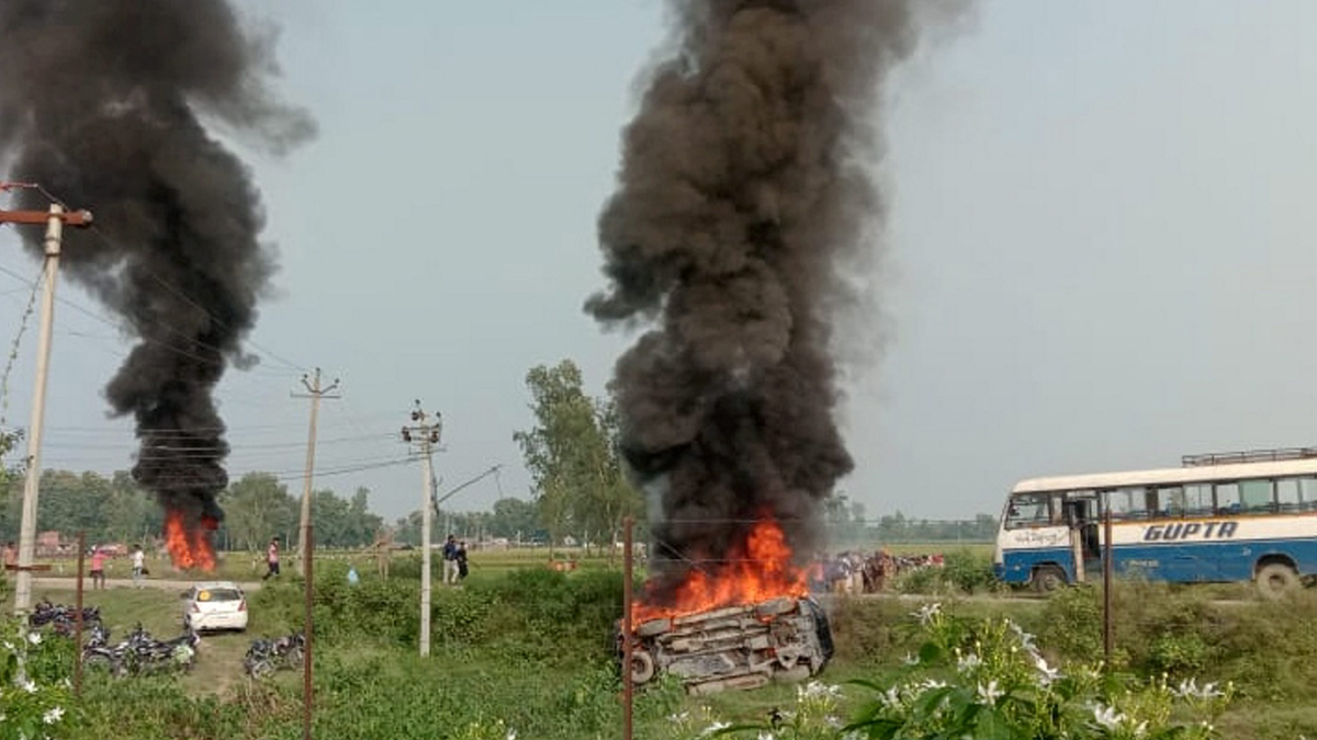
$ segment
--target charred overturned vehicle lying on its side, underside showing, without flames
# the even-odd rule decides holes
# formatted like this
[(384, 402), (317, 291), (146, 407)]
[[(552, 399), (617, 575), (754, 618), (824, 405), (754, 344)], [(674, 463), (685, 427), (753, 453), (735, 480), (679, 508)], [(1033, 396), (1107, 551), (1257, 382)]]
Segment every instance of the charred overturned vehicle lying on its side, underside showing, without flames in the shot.
[[(619, 662), (622, 639), (619, 624)], [(648, 619), (633, 627), (631, 649), (635, 685), (670, 674), (690, 694), (712, 694), (818, 674), (832, 657), (832, 632), (818, 602), (781, 596)]]

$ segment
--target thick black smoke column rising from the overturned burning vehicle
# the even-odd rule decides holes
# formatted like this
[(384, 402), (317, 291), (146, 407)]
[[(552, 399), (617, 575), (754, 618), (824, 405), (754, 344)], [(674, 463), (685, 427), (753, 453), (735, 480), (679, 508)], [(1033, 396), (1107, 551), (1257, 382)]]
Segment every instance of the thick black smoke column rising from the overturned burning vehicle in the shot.
[(917, 0), (674, 0), (677, 53), (624, 134), (599, 219), (605, 324), (655, 321), (618, 362), (626, 457), (664, 579), (738, 557), (776, 517), (793, 550), (852, 467), (830, 321), (884, 203), (884, 83)]

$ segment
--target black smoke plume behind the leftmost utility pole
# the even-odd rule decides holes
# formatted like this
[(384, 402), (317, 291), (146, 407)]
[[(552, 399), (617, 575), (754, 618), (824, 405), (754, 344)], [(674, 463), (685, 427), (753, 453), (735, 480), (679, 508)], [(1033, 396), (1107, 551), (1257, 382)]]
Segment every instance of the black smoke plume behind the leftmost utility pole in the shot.
[[(254, 361), (241, 344), (274, 270), (250, 172), (202, 117), (274, 151), (312, 136), (267, 87), (271, 49), (227, 0), (0, 1), (0, 155), (95, 212), (62, 267), (141, 340), (105, 395), (137, 421), (133, 475), (194, 529), (221, 517), (212, 392), (228, 362)], [(24, 238), (41, 253), (40, 229)]]

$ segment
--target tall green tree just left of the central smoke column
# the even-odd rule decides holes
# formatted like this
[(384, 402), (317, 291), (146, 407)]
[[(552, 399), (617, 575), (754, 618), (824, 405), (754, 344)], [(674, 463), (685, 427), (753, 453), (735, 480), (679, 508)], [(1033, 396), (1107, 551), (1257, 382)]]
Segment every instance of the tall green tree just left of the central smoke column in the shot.
[(622, 517), (640, 510), (618, 456), (615, 403), (587, 396), (570, 359), (532, 367), (525, 384), (535, 427), (512, 438), (531, 473), (551, 546), (568, 533), (586, 542), (615, 541)]

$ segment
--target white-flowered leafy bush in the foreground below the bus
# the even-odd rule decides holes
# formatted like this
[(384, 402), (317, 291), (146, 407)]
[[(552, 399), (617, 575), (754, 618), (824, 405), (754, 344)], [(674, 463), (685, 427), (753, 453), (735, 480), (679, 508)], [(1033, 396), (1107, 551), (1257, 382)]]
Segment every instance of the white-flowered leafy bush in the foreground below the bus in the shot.
[[(1212, 719), (1231, 693), (1105, 675), (1101, 665), (1062, 670), (1009, 619), (957, 619), (939, 604), (911, 616), (926, 641), (894, 683), (856, 682), (874, 698), (844, 737), (1198, 740), (1216, 736)], [(1173, 719), (1180, 716), (1196, 722)]]

